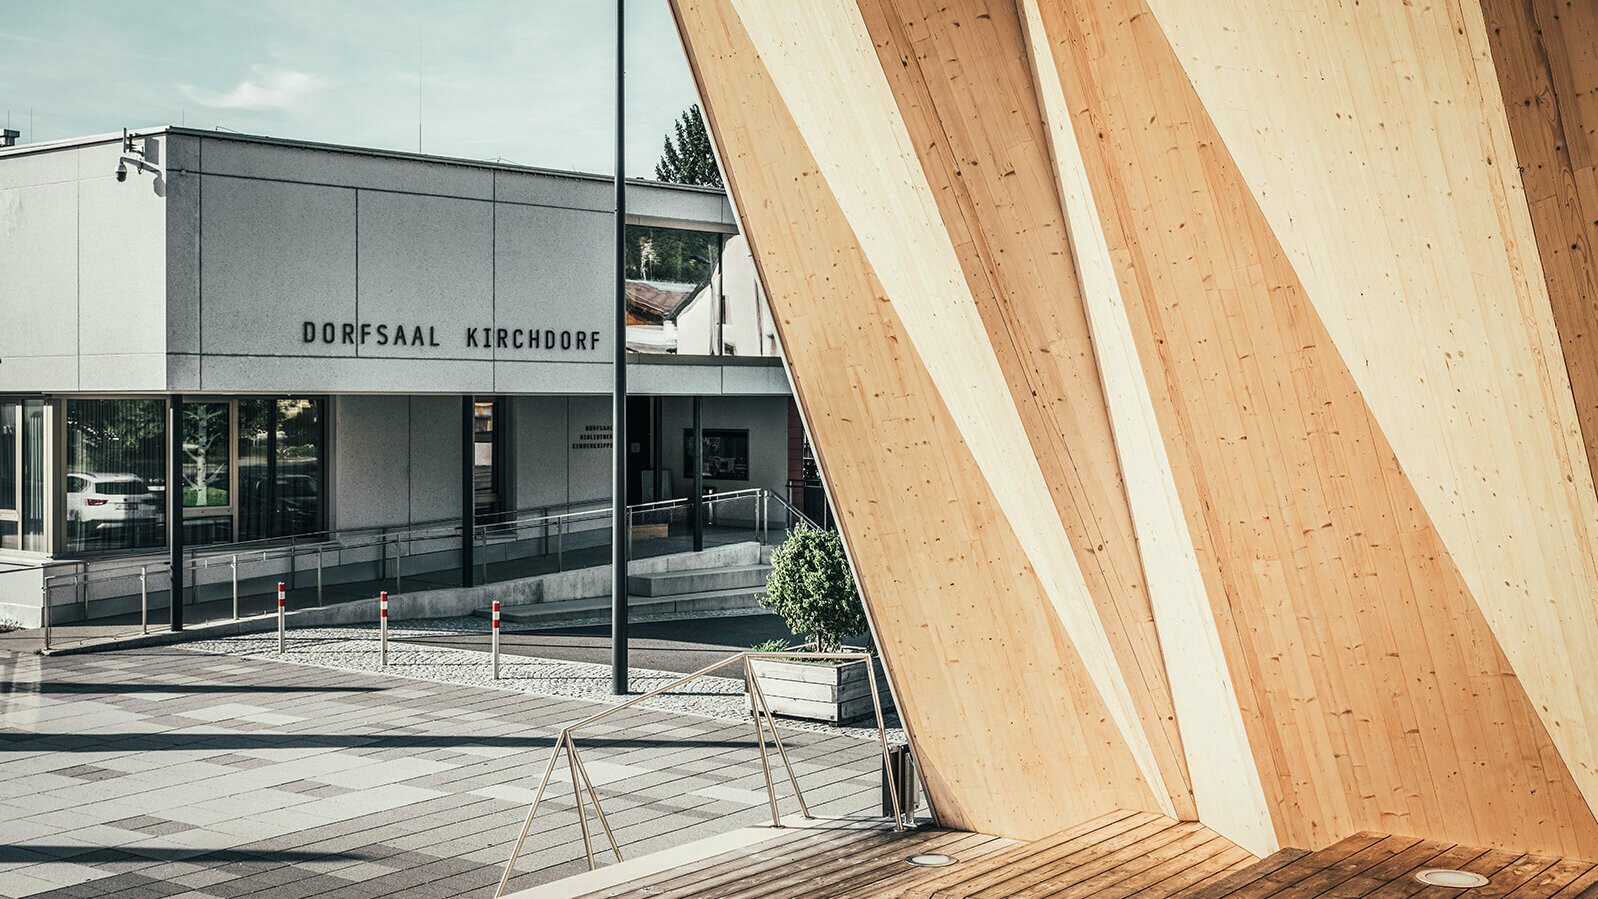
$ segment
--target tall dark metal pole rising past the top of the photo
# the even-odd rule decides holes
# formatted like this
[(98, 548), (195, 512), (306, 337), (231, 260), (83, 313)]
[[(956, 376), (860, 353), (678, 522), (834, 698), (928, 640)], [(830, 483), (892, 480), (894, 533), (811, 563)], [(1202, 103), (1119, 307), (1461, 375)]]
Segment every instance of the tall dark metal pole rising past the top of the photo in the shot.
[[(626, 693), (626, 0), (615, 2), (615, 390), (610, 396), (610, 691)], [(575, 765), (574, 765), (575, 770)], [(572, 786), (577, 786), (575, 774)], [(577, 814), (582, 816), (582, 800)], [(583, 842), (588, 829), (583, 824)], [(588, 849), (593, 865), (593, 848)]]

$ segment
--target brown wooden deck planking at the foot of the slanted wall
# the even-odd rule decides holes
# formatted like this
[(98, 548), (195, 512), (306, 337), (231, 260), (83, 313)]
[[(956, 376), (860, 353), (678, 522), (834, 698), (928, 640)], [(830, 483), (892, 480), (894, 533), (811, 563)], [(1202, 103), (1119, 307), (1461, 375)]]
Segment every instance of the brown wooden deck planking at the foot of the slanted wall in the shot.
[[(920, 869), (917, 853), (957, 864)], [(1427, 886), (1429, 867), (1489, 878)], [(983, 834), (826, 827), (778, 837), (620, 886), (598, 899), (1598, 899), (1598, 865), (1576, 859), (1354, 834), (1325, 849), (1256, 859), (1194, 821), (1112, 813), (1031, 843)]]

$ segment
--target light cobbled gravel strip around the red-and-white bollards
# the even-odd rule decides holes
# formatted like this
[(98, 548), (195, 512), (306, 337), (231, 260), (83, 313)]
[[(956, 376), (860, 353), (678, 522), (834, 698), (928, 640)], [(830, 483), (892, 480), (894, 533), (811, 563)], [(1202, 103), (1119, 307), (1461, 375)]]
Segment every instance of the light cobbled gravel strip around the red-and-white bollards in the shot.
[[(702, 615), (695, 615), (694, 618), (702, 618)], [(540, 629), (543, 628), (540, 624)], [(486, 687), (491, 690), (510, 690), (562, 699), (586, 699), (601, 706), (614, 706), (617, 703), (617, 698), (610, 693), (609, 666), (505, 653), (500, 656), (500, 679), (494, 680), (489, 655), (484, 651), (396, 642), (415, 637), (436, 637), (439, 634), (486, 634), (487, 631), (487, 621), (470, 616), (393, 623), (388, 626), (388, 667), (380, 664), (376, 624), (291, 629), (283, 656), (278, 656), (276, 634), (243, 634), (181, 645), (185, 650), (235, 655), (260, 661), (286, 661), (382, 674), (385, 677)], [(634, 693), (647, 693), (681, 677), (681, 674), (668, 671), (634, 667), (631, 669), (631, 688)], [(714, 720), (749, 719), (743, 683), (737, 679), (702, 677), (686, 685), (684, 690), (684, 693), (654, 696), (639, 703), (639, 706)], [(778, 720), (783, 730), (809, 730), (837, 733), (857, 739), (877, 739), (876, 722), (871, 719), (842, 727), (797, 719)], [(885, 712), (884, 723), (888, 725), (888, 743), (906, 741), (904, 730), (898, 727), (896, 715)]]

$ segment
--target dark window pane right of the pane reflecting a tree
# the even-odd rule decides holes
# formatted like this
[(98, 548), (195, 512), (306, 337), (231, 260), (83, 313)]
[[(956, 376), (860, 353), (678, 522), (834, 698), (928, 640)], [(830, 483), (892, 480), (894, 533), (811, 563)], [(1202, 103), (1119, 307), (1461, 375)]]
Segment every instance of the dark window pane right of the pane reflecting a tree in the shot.
[(323, 453), (321, 401), (238, 401), (240, 540), (321, 530)]

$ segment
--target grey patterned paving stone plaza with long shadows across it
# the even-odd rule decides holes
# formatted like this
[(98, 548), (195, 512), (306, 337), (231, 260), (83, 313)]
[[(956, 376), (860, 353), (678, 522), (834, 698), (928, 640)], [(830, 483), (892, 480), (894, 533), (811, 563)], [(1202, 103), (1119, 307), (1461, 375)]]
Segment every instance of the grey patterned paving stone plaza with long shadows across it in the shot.
[[(487, 897), (559, 728), (610, 704), (598, 666), (562, 669), (598, 682), (570, 698), (235, 648), (0, 650), (0, 896)], [(582, 731), (626, 857), (769, 821), (753, 725), (705, 715), (631, 709)], [(785, 728), (812, 811), (876, 811), (874, 735)], [(510, 888), (585, 869), (556, 779)]]

